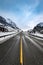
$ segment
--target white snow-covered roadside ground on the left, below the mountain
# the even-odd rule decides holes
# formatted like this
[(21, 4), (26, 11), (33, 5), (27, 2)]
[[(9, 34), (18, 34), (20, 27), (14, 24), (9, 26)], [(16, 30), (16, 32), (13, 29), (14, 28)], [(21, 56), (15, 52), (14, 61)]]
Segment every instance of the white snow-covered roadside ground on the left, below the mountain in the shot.
[[(12, 38), (13, 36), (19, 34), (21, 31), (13, 31), (13, 32), (0, 32), (0, 44), (2, 44), (3, 42), (7, 41), (8, 39)], [(11, 34), (11, 35), (10, 35)], [(8, 35), (8, 36), (4, 36), (4, 35)], [(4, 37), (1, 37), (4, 36)]]

